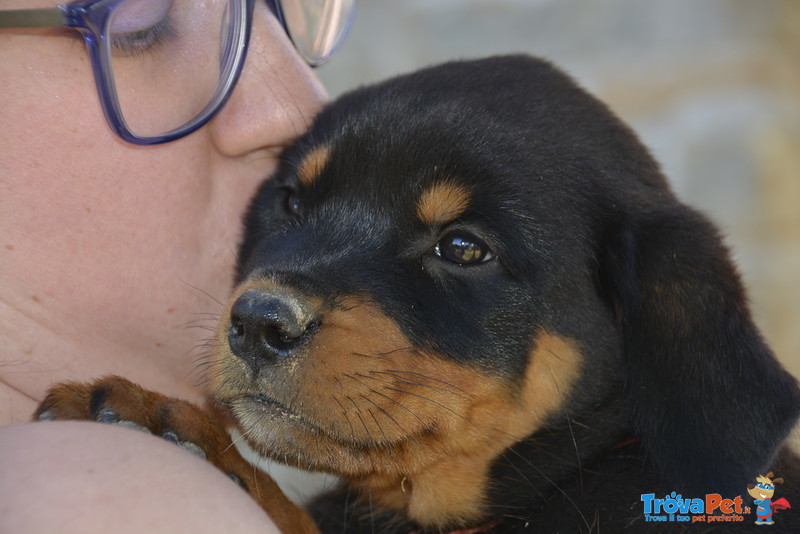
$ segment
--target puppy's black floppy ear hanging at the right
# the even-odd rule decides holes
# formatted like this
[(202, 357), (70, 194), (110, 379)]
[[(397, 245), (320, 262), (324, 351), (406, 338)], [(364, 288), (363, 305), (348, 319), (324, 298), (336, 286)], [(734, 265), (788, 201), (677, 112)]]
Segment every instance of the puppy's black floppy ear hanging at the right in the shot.
[(676, 490), (740, 494), (791, 430), (800, 393), (753, 324), (716, 229), (667, 201), (627, 215), (603, 247), (643, 445)]

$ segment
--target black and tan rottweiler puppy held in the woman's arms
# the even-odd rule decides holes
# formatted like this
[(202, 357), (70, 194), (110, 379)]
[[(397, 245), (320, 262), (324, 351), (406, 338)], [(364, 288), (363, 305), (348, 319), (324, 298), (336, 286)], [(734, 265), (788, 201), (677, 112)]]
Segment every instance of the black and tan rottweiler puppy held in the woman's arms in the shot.
[[(260, 453), (341, 477), (310, 505), (323, 532), (682, 531), (648, 500), (735, 499), (767, 471), (798, 501), (800, 393), (718, 230), (549, 63), (454, 62), (341, 97), (245, 224), (213, 398)], [(313, 529), (222, 458), (210, 412), (148, 395), (61, 386), (38, 416), (199, 448), (285, 529)]]

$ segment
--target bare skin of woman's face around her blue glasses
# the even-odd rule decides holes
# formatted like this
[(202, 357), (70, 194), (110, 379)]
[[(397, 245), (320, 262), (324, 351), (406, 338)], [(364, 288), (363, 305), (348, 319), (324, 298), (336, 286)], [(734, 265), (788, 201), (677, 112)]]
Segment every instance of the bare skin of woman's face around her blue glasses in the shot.
[[(53, 3), (0, 0), (30, 7)], [(137, 362), (115, 358), (135, 351), (174, 374), (143, 378), (151, 386), (196, 380), (192, 349), (210, 334), (192, 326), (213, 326), (206, 314), (228, 295), (242, 212), (324, 100), (265, 4), (255, 9), (226, 106), (153, 147), (109, 130), (77, 32), (0, 31), (0, 303), (67, 343), (118, 351), (106, 372), (130, 372)]]

